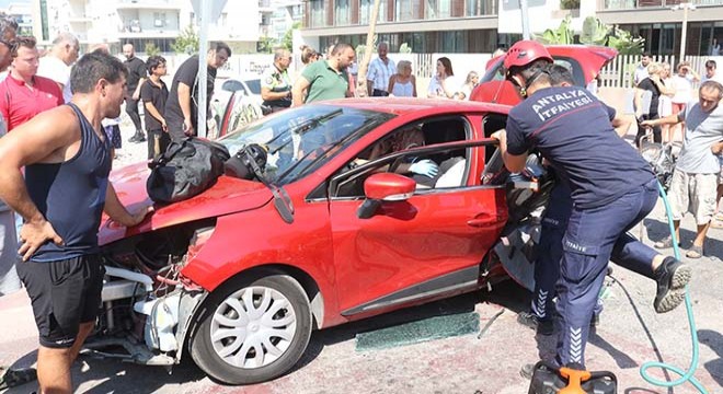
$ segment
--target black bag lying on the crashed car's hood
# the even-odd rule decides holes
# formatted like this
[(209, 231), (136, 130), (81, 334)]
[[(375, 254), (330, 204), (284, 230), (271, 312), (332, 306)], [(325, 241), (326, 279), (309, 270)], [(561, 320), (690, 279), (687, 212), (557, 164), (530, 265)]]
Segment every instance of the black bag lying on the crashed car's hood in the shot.
[(200, 194), (223, 174), (229, 157), (218, 142), (193, 137), (173, 141), (148, 164), (148, 196), (156, 202), (176, 202)]

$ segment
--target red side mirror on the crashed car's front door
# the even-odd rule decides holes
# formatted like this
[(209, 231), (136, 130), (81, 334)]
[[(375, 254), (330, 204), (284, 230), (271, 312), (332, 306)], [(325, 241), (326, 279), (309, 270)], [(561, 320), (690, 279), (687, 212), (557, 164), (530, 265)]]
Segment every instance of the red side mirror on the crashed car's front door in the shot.
[(366, 200), (359, 206), (356, 216), (369, 219), (379, 209), (382, 201), (404, 201), (414, 195), (416, 182), (403, 175), (379, 173), (364, 181)]

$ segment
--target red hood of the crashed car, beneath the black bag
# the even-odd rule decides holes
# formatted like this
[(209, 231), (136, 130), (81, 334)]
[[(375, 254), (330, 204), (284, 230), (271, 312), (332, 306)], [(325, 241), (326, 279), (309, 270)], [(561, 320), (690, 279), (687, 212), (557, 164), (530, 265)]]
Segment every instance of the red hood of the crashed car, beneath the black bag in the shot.
[[(150, 170), (147, 163), (133, 164), (114, 171), (110, 179), (120, 202), (134, 212), (153, 205), (146, 192), (146, 179)], [(259, 182), (250, 182), (221, 175), (204, 193), (190, 199), (160, 205), (140, 224), (126, 229), (103, 215), (99, 230), (99, 243), (111, 242), (184, 222), (223, 216), (260, 208), (273, 198), (272, 193)]]

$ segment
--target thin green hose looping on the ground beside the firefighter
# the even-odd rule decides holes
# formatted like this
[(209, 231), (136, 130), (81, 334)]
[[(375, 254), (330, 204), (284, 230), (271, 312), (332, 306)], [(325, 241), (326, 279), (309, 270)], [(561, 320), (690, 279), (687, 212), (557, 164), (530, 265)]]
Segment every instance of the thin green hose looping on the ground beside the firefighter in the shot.
[[(675, 228), (673, 225), (673, 216), (670, 213), (670, 206), (668, 204), (668, 198), (667, 195), (665, 194), (665, 189), (663, 188), (663, 185), (658, 183), (657, 187), (661, 193), (661, 197), (663, 197), (663, 202), (665, 204), (665, 212), (667, 213), (668, 217), (668, 227), (670, 228), (670, 237), (673, 240), (673, 252), (675, 254), (675, 258), (680, 259), (680, 251), (678, 250), (678, 240), (675, 236)], [(677, 367), (669, 366), (664, 362), (649, 361), (640, 367), (640, 375), (643, 376), (643, 379), (647, 383), (661, 387), (674, 387), (685, 382), (690, 382), (690, 384), (692, 384), (696, 389), (698, 389), (700, 393), (708, 394), (708, 390), (705, 390), (705, 387), (703, 387), (703, 385), (693, 376), (693, 373), (696, 373), (696, 370), (698, 369), (698, 351), (699, 351), (698, 332), (696, 331), (696, 322), (693, 321), (692, 306), (690, 304), (690, 292), (688, 291), (687, 286), (686, 286), (686, 311), (688, 313), (688, 325), (690, 326), (690, 340), (692, 343), (692, 359), (690, 360), (690, 367), (688, 368), (688, 370), (684, 371)], [(651, 378), (650, 375), (647, 375), (646, 371), (649, 368), (661, 368), (663, 370), (673, 371), (679, 374), (680, 378), (672, 382), (657, 380), (655, 378)]]

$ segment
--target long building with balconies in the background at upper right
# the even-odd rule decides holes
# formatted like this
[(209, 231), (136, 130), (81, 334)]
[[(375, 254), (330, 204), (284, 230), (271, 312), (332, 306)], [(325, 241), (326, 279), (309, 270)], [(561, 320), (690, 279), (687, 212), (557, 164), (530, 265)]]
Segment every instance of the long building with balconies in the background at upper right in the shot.
[[(686, 0), (686, 51), (704, 55), (713, 37), (723, 40), (723, 0)], [(645, 38), (656, 55), (679, 51), (684, 0), (528, 0), (532, 33), (555, 28), (567, 15), (582, 30), (587, 16), (618, 24)], [(374, 0), (305, 0), (301, 36), (324, 48), (335, 42), (366, 43)], [(381, 0), (378, 40), (397, 50), (406, 43), (416, 53), (490, 53), (521, 38), (519, 0)]]

